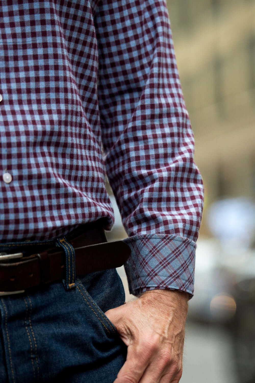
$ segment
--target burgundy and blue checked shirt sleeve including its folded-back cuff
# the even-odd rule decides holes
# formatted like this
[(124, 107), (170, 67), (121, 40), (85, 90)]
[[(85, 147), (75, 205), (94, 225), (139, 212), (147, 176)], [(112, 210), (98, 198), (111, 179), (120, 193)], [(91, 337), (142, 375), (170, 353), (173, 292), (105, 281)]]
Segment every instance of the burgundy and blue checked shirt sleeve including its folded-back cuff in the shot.
[(94, 17), (104, 160), (128, 233), (130, 293), (193, 295), (203, 183), (165, 0), (101, 0)]

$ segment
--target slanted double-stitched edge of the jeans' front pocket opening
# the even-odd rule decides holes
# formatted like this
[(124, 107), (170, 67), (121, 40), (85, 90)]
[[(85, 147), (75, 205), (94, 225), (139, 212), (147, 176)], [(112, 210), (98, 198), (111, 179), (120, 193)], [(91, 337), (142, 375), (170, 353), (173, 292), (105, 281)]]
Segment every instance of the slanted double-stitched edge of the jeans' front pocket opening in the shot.
[(114, 324), (110, 321), (109, 318), (107, 318), (106, 314), (104, 314), (104, 311), (102, 311), (102, 309), (99, 307), (96, 301), (93, 300), (93, 298), (81, 282), (80, 278), (78, 277), (76, 277), (76, 288), (83, 301), (91, 310), (91, 315), (98, 322), (99, 326), (102, 326), (104, 328), (106, 334), (117, 334), (117, 329), (114, 326)]

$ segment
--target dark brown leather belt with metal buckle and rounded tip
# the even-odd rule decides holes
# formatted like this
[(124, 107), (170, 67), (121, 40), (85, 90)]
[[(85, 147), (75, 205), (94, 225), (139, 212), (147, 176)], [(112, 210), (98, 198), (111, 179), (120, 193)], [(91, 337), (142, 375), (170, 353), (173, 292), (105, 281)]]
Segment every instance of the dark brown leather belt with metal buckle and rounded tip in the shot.
[[(125, 242), (107, 242), (102, 224), (103, 220), (99, 219), (80, 225), (65, 236), (75, 249), (77, 276), (120, 267), (130, 255)], [(65, 278), (65, 252), (55, 246), (55, 240), (47, 244), (1, 243), (0, 249), (4, 249), (0, 250), (0, 295), (22, 293)]]

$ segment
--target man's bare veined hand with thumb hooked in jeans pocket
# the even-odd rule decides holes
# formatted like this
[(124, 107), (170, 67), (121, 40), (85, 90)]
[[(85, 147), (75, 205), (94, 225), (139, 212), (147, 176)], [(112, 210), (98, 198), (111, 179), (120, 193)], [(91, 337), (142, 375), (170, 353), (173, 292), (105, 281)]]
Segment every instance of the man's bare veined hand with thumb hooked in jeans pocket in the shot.
[(127, 360), (114, 383), (178, 383), (188, 294), (152, 290), (106, 311), (128, 346)]

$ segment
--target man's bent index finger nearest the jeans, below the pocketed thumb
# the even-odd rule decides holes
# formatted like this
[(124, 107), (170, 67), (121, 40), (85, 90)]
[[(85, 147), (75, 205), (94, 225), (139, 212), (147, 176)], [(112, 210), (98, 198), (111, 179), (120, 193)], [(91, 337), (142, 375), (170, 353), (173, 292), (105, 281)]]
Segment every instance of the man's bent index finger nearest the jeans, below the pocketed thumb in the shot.
[(140, 349), (137, 345), (130, 345), (127, 349), (127, 360), (120, 369), (114, 383), (138, 383), (143, 376), (149, 362), (149, 350)]

